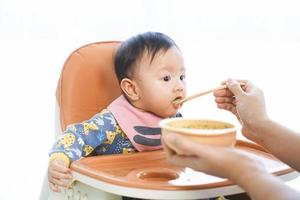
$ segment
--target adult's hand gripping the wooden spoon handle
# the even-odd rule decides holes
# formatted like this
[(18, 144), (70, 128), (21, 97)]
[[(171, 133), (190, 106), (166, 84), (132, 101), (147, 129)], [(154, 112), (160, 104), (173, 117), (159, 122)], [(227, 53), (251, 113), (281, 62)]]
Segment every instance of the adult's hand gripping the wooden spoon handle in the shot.
[(251, 82), (241, 87), (240, 83), (228, 79), (227, 89), (214, 92), (217, 106), (232, 112), (242, 124), (242, 133), (257, 141), (257, 128), (268, 120), (263, 92)]

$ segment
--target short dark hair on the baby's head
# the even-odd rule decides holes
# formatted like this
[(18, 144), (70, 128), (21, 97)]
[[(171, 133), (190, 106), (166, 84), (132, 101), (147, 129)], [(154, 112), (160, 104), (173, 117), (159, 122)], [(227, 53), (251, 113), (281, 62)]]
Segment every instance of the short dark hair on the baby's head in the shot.
[(115, 55), (115, 73), (119, 82), (123, 78), (130, 78), (134, 65), (145, 53), (151, 56), (152, 62), (157, 53), (174, 46), (178, 48), (169, 36), (158, 32), (146, 32), (122, 42)]

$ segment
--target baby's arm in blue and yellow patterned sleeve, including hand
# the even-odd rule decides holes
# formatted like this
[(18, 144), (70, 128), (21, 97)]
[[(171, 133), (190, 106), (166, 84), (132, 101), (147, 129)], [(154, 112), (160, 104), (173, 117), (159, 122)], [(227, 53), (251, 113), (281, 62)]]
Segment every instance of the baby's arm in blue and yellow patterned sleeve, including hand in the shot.
[(88, 121), (68, 126), (53, 145), (48, 167), (49, 185), (53, 191), (59, 192), (59, 187), (68, 187), (72, 179), (69, 169), (72, 162), (89, 155), (106, 140), (101, 131), (105, 122), (100, 116), (97, 114)]

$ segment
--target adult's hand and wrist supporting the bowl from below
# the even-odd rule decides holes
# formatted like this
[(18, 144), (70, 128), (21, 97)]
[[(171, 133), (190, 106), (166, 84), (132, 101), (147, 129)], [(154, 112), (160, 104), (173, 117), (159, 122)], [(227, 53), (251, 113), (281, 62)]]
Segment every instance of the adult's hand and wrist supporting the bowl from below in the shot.
[(178, 134), (166, 135), (163, 145), (169, 162), (237, 183), (251, 179), (253, 174), (265, 173), (261, 163), (234, 148), (199, 144)]

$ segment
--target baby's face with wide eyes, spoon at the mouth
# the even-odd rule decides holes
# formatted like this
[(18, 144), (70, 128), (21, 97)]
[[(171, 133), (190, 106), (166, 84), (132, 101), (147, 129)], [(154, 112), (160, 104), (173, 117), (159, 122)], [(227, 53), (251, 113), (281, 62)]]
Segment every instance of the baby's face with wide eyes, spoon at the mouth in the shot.
[(161, 117), (174, 116), (180, 106), (173, 104), (186, 95), (185, 66), (181, 52), (173, 47), (159, 52), (152, 62), (144, 56), (133, 80), (139, 90), (139, 108)]

